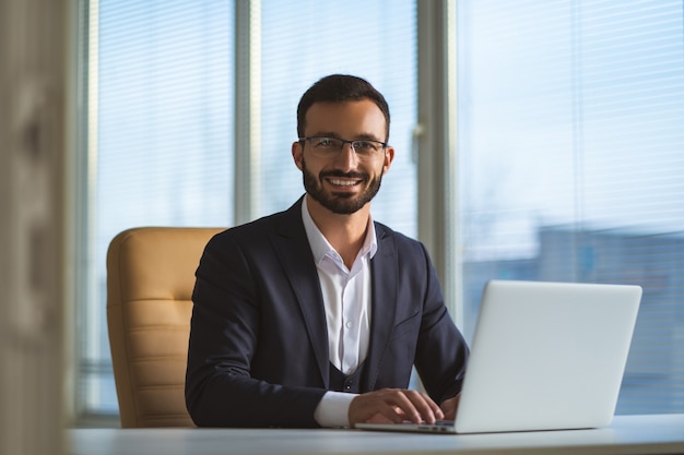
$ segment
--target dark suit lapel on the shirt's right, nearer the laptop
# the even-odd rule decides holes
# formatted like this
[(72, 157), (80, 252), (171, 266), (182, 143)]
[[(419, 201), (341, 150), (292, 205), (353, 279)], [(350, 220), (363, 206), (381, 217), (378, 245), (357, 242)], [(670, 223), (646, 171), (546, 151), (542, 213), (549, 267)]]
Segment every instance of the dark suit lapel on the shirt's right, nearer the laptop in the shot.
[(370, 340), (366, 357), (367, 390), (374, 390), (379, 366), (389, 345), (397, 311), (397, 250), (387, 232), (376, 224), (378, 251), (370, 261), (373, 275)]

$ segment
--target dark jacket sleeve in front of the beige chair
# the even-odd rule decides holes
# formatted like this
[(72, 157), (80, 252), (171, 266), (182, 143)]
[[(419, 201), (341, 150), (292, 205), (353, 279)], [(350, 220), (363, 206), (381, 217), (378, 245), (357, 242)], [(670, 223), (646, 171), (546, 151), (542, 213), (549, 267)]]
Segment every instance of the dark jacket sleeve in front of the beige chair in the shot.
[(199, 427), (318, 427), (325, 388), (251, 375), (261, 302), (237, 241), (217, 236), (197, 270), (186, 373), (186, 405)]

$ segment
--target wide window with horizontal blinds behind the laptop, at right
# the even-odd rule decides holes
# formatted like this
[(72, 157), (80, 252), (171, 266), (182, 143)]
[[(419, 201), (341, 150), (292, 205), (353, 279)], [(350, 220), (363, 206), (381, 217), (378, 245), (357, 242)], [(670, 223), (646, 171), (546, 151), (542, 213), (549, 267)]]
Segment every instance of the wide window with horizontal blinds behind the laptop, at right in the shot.
[(684, 411), (682, 2), (458, 7), (467, 334), (490, 278), (641, 285), (617, 412)]

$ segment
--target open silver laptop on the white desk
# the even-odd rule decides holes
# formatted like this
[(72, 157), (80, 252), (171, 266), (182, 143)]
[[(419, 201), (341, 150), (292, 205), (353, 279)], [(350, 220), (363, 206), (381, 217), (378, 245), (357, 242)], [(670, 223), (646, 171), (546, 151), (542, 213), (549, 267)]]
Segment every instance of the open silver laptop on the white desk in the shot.
[(482, 433), (611, 424), (641, 287), (485, 285), (455, 421), (366, 430)]

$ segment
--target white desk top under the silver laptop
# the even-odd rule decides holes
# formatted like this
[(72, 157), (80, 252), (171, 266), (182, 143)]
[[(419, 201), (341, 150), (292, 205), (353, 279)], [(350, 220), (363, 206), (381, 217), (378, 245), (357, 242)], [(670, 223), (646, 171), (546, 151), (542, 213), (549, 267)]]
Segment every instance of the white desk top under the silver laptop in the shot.
[(604, 429), (528, 433), (76, 429), (67, 440), (73, 455), (684, 454), (684, 415), (616, 416)]

